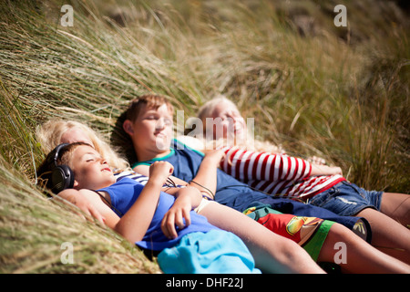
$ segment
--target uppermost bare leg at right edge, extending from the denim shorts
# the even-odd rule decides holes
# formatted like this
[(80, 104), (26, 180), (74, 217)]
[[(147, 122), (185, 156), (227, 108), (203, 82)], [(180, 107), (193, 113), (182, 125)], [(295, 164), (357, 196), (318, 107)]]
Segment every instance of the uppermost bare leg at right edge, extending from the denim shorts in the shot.
[(405, 193), (383, 193), (380, 212), (410, 228), (410, 195)]

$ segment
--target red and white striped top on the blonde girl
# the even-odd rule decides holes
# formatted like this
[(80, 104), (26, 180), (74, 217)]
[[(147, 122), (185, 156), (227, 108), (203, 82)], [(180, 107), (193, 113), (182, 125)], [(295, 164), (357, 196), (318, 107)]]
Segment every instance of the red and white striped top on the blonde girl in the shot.
[(312, 165), (285, 154), (225, 147), (220, 168), (241, 182), (272, 195), (306, 200), (344, 181), (342, 175), (311, 176)]

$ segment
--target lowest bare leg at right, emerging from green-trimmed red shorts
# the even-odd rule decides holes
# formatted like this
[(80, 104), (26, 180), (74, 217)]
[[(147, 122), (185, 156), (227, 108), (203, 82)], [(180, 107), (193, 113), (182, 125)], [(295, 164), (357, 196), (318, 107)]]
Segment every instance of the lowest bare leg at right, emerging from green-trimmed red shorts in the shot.
[(410, 273), (410, 266), (367, 244), (342, 224), (332, 225), (318, 261), (336, 262), (343, 273)]

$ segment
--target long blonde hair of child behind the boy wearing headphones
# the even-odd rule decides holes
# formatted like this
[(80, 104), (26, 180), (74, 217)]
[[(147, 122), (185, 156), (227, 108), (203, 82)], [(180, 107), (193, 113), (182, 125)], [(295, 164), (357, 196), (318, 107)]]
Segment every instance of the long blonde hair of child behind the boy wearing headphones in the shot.
[(36, 138), (41, 144), (41, 149), (45, 153), (49, 153), (60, 144), (62, 135), (70, 129), (78, 128), (87, 134), (90, 141), (93, 142), (94, 148), (104, 157), (108, 164), (118, 170), (126, 170), (129, 168), (129, 163), (104, 141), (95, 130), (92, 130), (87, 125), (75, 120), (51, 119), (36, 128)]

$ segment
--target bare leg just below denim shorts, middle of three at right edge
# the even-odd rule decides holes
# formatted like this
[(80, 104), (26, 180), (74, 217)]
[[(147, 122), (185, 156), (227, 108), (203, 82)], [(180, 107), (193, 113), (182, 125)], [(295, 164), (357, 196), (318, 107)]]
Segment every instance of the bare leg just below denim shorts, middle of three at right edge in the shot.
[(371, 208), (357, 216), (367, 219), (372, 227), (372, 245), (410, 265), (410, 230), (394, 219)]

